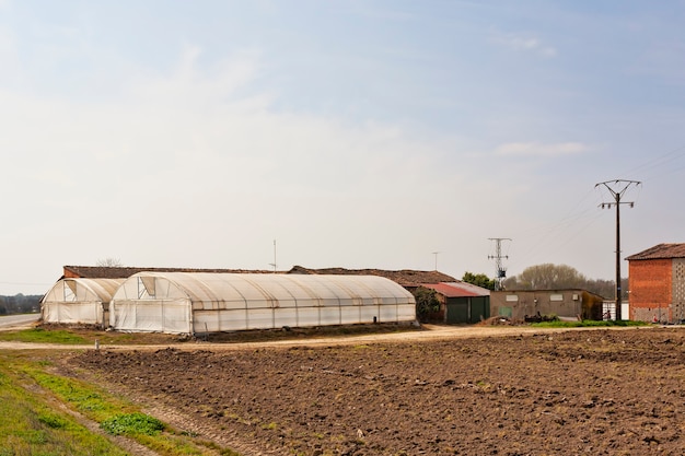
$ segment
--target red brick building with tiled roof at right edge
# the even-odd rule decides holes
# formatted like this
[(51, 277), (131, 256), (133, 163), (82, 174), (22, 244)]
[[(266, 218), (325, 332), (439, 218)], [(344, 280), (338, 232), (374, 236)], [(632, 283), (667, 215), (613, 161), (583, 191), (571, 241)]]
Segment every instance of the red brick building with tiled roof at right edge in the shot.
[(659, 244), (626, 258), (630, 319), (685, 319), (685, 244)]

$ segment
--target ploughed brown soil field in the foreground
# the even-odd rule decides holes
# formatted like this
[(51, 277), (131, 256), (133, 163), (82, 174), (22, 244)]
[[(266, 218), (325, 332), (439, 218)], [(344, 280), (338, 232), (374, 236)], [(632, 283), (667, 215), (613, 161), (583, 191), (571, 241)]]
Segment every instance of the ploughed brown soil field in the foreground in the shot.
[(102, 349), (70, 365), (244, 455), (681, 455), (684, 343), (681, 328), (538, 330)]

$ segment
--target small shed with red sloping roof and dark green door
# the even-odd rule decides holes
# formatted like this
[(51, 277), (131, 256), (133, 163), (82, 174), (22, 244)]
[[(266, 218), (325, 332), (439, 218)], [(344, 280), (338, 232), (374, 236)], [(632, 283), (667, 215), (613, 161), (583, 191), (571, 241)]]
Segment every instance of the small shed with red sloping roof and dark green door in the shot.
[(440, 311), (429, 315), (431, 320), (448, 324), (478, 323), (490, 317), (490, 290), (472, 283), (423, 283), (434, 290)]

